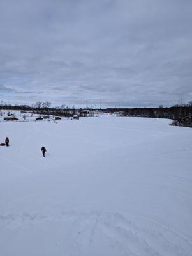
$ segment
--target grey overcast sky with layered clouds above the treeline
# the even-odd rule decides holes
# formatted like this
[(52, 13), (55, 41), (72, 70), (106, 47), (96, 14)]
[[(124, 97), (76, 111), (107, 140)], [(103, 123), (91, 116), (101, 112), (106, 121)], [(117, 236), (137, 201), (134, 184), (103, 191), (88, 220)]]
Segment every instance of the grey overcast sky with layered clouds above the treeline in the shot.
[(191, 0), (0, 0), (0, 103), (192, 100)]

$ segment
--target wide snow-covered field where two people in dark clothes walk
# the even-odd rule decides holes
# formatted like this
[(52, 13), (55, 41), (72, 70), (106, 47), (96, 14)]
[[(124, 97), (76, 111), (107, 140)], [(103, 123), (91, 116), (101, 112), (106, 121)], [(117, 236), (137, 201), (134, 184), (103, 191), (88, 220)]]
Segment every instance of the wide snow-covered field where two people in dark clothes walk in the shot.
[(192, 129), (169, 123), (1, 123), (0, 255), (192, 255)]

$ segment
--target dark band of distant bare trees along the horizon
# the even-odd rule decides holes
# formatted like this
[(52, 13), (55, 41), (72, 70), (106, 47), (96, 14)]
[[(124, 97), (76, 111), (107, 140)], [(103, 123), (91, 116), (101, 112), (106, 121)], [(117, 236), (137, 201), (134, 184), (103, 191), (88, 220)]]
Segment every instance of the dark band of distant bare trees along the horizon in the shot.
[[(149, 118), (168, 118), (173, 120), (170, 125), (192, 127), (192, 102), (189, 104), (175, 105), (170, 108), (106, 108), (106, 109), (92, 109), (92, 108), (79, 108), (75, 109), (62, 105), (59, 107), (51, 108), (50, 102), (36, 102), (33, 106), (11, 104), (0, 104), (0, 109), (4, 110), (20, 110), (30, 111), (40, 114), (57, 115), (57, 116), (94, 116), (90, 113), (94, 111), (102, 111), (104, 113), (115, 113), (118, 116), (137, 116)], [(86, 115), (89, 113), (89, 115)]]

